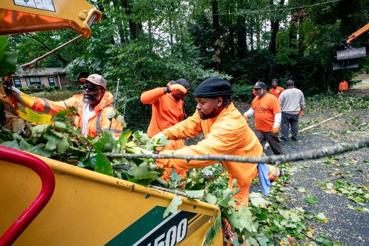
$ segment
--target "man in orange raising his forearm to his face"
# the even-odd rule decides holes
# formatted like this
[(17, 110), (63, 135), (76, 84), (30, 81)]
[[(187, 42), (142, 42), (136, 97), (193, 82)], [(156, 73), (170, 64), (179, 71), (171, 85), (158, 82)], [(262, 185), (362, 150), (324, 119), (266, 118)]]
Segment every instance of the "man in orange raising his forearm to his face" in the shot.
[[(185, 112), (183, 111), (183, 99), (190, 91), (190, 83), (180, 78), (177, 81), (172, 80), (167, 87), (158, 87), (141, 94), (141, 102), (152, 105), (152, 117), (147, 134), (153, 137), (162, 130), (174, 126), (183, 120)], [(164, 149), (177, 150), (185, 147), (185, 140), (182, 138), (172, 140), (171, 144)], [(186, 177), (186, 170), (177, 169), (177, 174), (182, 178)], [(162, 179), (170, 179), (171, 169), (166, 169)]]

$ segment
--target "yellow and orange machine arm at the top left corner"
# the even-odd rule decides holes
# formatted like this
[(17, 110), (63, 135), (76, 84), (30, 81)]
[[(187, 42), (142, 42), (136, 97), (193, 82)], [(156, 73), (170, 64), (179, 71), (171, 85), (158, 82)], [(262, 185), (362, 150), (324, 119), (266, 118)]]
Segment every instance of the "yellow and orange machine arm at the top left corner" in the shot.
[(85, 0), (1, 0), (0, 35), (72, 29), (88, 38), (101, 16)]

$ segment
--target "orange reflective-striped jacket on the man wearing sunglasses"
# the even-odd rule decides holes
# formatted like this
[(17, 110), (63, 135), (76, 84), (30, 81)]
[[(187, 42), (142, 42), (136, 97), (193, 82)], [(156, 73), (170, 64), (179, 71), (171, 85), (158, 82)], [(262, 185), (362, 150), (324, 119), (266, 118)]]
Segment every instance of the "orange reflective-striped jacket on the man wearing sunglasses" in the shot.
[[(33, 97), (35, 103), (33, 110), (44, 112), (47, 114), (56, 114), (59, 111), (67, 110), (69, 107), (74, 107), (77, 110), (77, 115), (73, 118), (73, 123), (76, 127), (82, 128), (82, 104), (83, 94), (74, 95), (64, 101), (50, 101), (44, 98)], [(111, 120), (107, 118), (107, 114), (114, 111), (111, 105), (113, 94), (106, 91), (100, 103), (94, 108), (95, 115), (90, 118), (87, 123), (87, 135), (96, 137), (101, 131), (110, 131), (114, 136), (119, 136), (122, 133), (122, 125), (115, 118)], [(111, 122), (111, 125), (110, 125)]]

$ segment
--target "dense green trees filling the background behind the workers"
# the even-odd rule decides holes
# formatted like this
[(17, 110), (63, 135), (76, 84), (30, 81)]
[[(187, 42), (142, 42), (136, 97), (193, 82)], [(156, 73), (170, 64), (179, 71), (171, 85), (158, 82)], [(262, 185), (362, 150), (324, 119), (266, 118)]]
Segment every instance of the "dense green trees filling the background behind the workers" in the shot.
[[(249, 99), (257, 80), (287, 79), (305, 95), (337, 90), (342, 78), (369, 70), (333, 71), (335, 52), (349, 35), (369, 22), (368, 0), (90, 0), (104, 16), (87, 40), (47, 58), (40, 67), (62, 66), (70, 77), (104, 75), (131, 128), (143, 128), (150, 107), (142, 91), (187, 78), (195, 88), (204, 78), (228, 78), (235, 98)], [(367, 33), (354, 47), (368, 47)], [(50, 51), (76, 36), (70, 30), (12, 35), (10, 49), (19, 63)], [(188, 98), (189, 113), (193, 98)]]

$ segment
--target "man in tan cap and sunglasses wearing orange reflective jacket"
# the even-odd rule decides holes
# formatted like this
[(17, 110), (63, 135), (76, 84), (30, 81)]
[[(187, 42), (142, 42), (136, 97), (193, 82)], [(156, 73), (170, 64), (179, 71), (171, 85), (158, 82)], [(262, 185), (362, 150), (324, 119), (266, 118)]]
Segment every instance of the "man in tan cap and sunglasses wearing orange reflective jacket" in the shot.
[(101, 131), (110, 131), (114, 136), (122, 132), (122, 125), (115, 118), (108, 118), (107, 114), (115, 111), (111, 105), (113, 94), (106, 91), (106, 81), (98, 74), (91, 74), (79, 81), (83, 85), (84, 93), (74, 95), (63, 101), (51, 101), (44, 98), (32, 97), (13, 87), (16, 100), (24, 107), (47, 114), (56, 114), (62, 110), (74, 107), (77, 110), (73, 123), (81, 128), (83, 136), (97, 137)]

